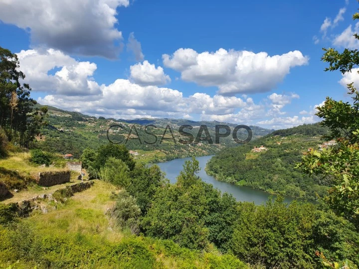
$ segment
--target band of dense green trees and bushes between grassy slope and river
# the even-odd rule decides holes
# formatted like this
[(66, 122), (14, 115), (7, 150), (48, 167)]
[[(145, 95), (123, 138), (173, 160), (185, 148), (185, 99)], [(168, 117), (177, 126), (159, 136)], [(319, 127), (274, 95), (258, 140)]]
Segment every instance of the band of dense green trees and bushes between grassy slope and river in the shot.
[(195, 159), (185, 162), (175, 184), (156, 165), (130, 168), (112, 157), (104, 167), (104, 179), (124, 188), (110, 214), (134, 234), (202, 252), (233, 253), (269, 268), (359, 263), (359, 235), (349, 221), (310, 203), (287, 205), (281, 197), (262, 206), (238, 203), (196, 175)]

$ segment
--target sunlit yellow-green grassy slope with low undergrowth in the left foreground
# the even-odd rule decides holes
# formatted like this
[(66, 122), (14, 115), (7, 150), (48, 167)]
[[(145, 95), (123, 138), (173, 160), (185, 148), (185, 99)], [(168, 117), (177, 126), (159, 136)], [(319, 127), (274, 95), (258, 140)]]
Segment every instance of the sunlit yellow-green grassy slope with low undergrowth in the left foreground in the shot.
[(102, 207), (113, 204), (111, 189), (97, 181), (83, 197), (28, 219), (18, 218), (13, 204), (0, 204), (0, 268), (247, 268), (233, 255), (200, 253), (170, 240), (132, 235), (121, 220), (130, 223), (139, 216), (136, 199), (120, 191), (106, 216)]

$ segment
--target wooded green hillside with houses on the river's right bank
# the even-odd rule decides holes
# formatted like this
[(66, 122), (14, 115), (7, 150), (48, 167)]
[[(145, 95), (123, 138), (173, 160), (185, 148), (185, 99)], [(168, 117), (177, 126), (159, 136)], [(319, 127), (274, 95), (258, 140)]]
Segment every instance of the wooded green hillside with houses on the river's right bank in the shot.
[[(321, 143), (328, 130), (320, 124), (278, 130), (246, 145), (226, 148), (207, 164), (217, 179), (271, 193), (316, 200), (327, 194), (330, 176), (310, 176), (295, 169), (308, 148)], [(255, 146), (268, 150), (252, 152)]]

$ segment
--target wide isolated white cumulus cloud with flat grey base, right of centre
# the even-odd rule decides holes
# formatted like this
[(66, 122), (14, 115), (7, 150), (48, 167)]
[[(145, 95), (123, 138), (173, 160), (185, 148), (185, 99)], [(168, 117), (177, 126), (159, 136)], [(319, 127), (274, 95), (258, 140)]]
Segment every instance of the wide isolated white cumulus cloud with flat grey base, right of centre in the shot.
[(219, 49), (197, 53), (180, 48), (164, 54), (166, 67), (181, 72), (181, 79), (202, 86), (216, 86), (219, 94), (258, 93), (274, 89), (290, 69), (308, 63), (300, 51), (269, 56), (266, 52)]

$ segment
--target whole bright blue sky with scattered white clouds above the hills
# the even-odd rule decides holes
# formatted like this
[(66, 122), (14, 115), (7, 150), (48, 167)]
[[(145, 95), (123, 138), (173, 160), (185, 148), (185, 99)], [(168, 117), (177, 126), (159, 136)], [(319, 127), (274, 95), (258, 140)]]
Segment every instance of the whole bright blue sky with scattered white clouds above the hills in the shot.
[(324, 72), (322, 48), (359, 48), (356, 0), (0, 0), (0, 46), (43, 105), (115, 119), (282, 129), (349, 101), (358, 70)]

